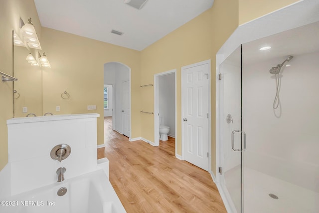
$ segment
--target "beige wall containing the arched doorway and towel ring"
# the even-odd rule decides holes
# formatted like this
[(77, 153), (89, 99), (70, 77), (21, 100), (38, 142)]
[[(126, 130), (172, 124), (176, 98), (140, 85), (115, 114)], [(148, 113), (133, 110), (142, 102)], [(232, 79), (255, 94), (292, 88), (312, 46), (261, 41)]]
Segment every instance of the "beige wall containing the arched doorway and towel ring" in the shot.
[[(52, 67), (42, 73), (43, 113), (99, 113), (98, 144), (104, 144), (104, 64), (116, 61), (131, 68), (132, 137), (140, 137), (140, 51), (45, 27), (41, 45)], [(63, 91), (70, 99), (61, 98)], [(87, 110), (87, 105), (97, 109)]]

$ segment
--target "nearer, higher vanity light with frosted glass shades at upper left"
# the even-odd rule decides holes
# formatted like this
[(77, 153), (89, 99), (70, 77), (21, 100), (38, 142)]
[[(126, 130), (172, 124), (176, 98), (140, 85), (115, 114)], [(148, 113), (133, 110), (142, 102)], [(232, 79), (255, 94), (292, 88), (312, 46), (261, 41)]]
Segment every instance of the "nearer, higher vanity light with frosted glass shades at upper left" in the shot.
[(28, 47), (33, 49), (41, 49), (38, 36), (36, 35), (36, 31), (30, 17), (28, 18), (28, 22), (26, 24), (24, 24), (23, 20), (20, 18), (20, 28)]

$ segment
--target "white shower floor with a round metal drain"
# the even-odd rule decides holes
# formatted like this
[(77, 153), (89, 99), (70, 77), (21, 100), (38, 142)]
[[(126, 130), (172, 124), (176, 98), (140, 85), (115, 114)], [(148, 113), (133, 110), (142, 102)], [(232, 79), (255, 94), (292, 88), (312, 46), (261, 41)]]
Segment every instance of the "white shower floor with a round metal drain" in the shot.
[[(240, 167), (232, 170), (225, 174), (228, 185), (232, 186), (228, 190), (239, 195), (240, 185), (232, 177), (236, 177), (234, 174), (240, 172)], [(243, 188), (244, 213), (319, 213), (319, 193), (246, 167)], [(269, 194), (279, 199), (275, 200)]]

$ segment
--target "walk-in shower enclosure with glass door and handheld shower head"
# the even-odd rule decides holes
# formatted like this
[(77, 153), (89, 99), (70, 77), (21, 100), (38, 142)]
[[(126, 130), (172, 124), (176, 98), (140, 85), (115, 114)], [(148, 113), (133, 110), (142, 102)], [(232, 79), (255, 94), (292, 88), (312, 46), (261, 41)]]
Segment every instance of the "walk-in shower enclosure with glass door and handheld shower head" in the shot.
[(231, 212), (319, 212), (318, 38), (315, 22), (221, 63), (220, 185)]

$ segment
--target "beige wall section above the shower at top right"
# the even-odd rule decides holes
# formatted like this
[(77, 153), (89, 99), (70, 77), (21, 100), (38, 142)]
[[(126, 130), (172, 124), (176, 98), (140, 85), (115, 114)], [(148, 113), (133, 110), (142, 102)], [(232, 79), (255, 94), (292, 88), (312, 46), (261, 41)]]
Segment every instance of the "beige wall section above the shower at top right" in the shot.
[(300, 0), (238, 0), (239, 25)]

